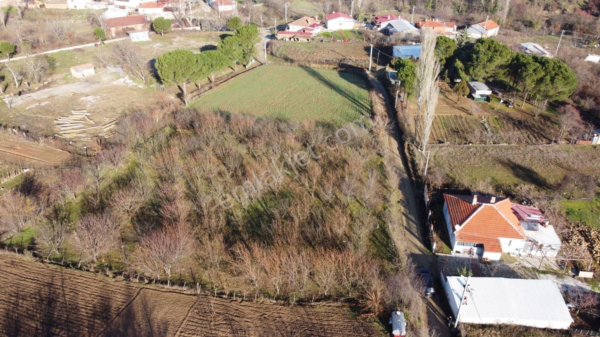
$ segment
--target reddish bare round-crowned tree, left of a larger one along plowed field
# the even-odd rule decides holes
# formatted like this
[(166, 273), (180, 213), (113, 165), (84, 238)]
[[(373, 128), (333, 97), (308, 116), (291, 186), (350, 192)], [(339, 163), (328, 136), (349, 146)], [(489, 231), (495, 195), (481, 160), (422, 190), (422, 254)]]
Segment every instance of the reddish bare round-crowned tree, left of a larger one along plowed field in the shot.
[(121, 223), (115, 213), (88, 214), (77, 221), (70, 242), (82, 260), (95, 264), (98, 258), (118, 247), (120, 233)]

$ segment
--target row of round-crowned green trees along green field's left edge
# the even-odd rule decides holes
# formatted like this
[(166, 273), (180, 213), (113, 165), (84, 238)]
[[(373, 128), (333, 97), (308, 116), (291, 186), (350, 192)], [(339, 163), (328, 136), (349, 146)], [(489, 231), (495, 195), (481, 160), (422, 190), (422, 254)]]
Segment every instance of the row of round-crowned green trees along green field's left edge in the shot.
[[(217, 44), (217, 50), (208, 50), (194, 54), (189, 50), (177, 49), (158, 57), (156, 68), (160, 80), (165, 84), (176, 84), (181, 89), (182, 100), (189, 100), (187, 83), (196, 83), (211, 76), (214, 82), (215, 72), (236, 65), (247, 64), (256, 52), (258, 28), (254, 25), (239, 26), (234, 36), (228, 36)], [(234, 68), (235, 69), (235, 68)]]

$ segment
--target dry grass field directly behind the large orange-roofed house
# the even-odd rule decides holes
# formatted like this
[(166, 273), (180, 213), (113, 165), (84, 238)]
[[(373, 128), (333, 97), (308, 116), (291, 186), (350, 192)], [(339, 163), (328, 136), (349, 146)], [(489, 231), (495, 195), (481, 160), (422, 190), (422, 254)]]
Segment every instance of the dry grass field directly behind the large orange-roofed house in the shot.
[(446, 173), (458, 186), (510, 190), (529, 186), (530, 196), (556, 193), (571, 171), (598, 179), (600, 148), (584, 145), (430, 146), (431, 170)]

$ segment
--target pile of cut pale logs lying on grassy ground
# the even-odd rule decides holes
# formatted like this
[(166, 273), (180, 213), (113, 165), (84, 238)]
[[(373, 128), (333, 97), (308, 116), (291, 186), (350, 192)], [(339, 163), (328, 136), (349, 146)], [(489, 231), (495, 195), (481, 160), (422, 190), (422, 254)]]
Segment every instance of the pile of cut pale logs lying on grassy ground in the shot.
[(86, 122), (89, 122), (89, 124), (95, 124), (94, 120), (88, 117), (90, 115), (91, 113), (86, 109), (71, 110), (71, 115), (61, 116), (55, 119), (54, 124), (56, 124), (58, 133), (55, 133), (54, 136), (59, 138), (82, 137), (82, 140), (95, 140), (98, 138), (97, 136), (91, 136), (84, 131), (100, 128), (102, 131), (98, 134), (98, 136), (108, 138), (116, 134), (116, 131), (111, 131), (110, 129), (115, 127), (118, 119), (104, 117), (104, 121), (107, 121), (106, 124), (87, 127), (85, 124)]

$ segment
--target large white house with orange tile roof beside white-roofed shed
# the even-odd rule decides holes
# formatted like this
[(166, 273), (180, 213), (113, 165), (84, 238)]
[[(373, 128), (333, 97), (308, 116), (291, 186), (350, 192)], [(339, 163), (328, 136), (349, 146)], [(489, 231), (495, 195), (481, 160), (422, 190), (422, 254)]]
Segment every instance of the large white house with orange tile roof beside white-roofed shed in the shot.
[(482, 195), (444, 194), (443, 197), (443, 214), (453, 252), (468, 254), (473, 248), (476, 254), (497, 261), (503, 252), (536, 254), (532, 243), (553, 245), (556, 251), (560, 247), (554, 228), (540, 218), (541, 212), (535, 207), (511, 203), (509, 198)]

